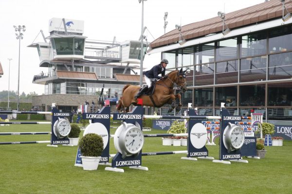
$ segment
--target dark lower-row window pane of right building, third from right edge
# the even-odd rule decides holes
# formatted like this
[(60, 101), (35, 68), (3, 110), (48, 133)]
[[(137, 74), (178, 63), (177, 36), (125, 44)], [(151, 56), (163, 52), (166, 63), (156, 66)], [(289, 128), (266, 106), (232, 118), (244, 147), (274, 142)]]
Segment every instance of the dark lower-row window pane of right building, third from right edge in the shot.
[(221, 106), (225, 102), (226, 107), (237, 106), (237, 86), (215, 88), (215, 106)]

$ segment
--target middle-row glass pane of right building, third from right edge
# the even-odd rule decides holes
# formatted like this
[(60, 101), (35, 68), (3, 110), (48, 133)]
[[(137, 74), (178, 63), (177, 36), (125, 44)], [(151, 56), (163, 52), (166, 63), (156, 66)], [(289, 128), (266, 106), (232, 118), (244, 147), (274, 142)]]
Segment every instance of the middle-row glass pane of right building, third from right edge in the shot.
[(237, 83), (238, 61), (225, 61), (216, 63), (216, 83)]

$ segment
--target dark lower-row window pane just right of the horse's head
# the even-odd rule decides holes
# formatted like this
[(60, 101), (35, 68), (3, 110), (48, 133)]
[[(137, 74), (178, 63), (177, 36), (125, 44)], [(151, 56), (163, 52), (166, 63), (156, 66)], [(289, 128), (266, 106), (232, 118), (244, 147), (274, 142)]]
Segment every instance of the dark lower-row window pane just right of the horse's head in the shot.
[(195, 89), (196, 106), (213, 106), (213, 88), (197, 88)]

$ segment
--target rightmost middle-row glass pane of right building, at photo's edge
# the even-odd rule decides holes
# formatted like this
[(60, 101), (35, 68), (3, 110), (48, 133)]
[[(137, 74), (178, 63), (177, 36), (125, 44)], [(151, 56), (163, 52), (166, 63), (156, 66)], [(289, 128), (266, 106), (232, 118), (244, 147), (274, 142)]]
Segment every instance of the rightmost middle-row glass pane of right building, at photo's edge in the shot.
[(292, 52), (269, 56), (269, 80), (292, 78)]

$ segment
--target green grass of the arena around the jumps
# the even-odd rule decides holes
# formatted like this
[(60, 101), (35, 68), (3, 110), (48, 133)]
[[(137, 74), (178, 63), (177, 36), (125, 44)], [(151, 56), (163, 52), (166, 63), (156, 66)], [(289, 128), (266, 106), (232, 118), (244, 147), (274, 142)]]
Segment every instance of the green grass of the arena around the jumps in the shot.
[[(50, 130), (50, 125), (0, 127), (0, 132)], [(44, 140), (50, 140), (50, 135), (0, 136), (1, 142)], [(46, 145), (0, 145), (0, 194), (291, 194), (292, 190), (292, 141), (266, 147), (264, 159), (247, 159), (249, 163), (181, 160), (185, 154), (144, 156), (142, 166), (148, 171), (124, 167), (125, 173), (105, 171), (104, 165), (97, 171), (84, 171), (74, 166), (76, 146)], [(210, 156), (219, 158), (218, 146), (207, 148)], [(143, 152), (185, 149), (162, 146), (161, 138), (155, 137), (146, 138)]]

